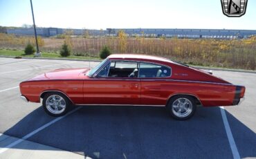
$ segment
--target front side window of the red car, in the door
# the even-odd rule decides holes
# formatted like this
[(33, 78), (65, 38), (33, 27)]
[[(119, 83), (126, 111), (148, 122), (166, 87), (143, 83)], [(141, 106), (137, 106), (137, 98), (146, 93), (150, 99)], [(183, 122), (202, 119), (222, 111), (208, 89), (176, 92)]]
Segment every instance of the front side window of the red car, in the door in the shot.
[(113, 61), (109, 77), (138, 77), (138, 62)]

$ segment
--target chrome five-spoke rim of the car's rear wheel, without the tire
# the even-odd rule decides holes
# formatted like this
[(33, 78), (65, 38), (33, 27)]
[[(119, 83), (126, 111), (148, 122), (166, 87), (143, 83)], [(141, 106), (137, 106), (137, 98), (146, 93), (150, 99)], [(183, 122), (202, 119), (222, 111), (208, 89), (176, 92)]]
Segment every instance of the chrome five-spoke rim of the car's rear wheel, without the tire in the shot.
[(185, 97), (178, 98), (172, 103), (172, 113), (179, 118), (185, 118), (192, 113), (193, 105)]

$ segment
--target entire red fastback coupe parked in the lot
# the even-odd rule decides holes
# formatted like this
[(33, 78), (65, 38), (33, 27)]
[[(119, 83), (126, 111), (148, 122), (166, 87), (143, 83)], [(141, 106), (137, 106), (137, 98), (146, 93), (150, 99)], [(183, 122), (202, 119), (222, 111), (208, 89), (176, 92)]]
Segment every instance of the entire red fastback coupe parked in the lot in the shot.
[(166, 106), (186, 120), (196, 106), (239, 104), (245, 87), (162, 57), (110, 55), (95, 68), (57, 69), (21, 82), (21, 98), (40, 102), (46, 113), (64, 115), (71, 106)]

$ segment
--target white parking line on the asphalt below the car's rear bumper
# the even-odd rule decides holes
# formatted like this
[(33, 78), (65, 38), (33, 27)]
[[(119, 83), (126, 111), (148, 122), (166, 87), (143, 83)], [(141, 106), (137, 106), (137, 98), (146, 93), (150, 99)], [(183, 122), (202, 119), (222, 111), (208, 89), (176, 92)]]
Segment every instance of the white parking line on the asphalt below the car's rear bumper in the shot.
[(220, 109), (221, 109), (221, 116), (222, 116), (222, 120), (223, 120), (223, 123), (224, 123), (224, 127), (225, 127), (225, 130), (226, 130), (227, 136), (228, 136), (228, 142), (230, 144), (230, 148), (231, 148), (231, 151), (232, 151), (232, 154), (233, 154), (233, 158), (239, 159), (240, 155), (239, 155), (239, 152), (237, 150), (237, 145), (235, 144), (235, 140), (233, 138), (230, 126), (228, 124), (228, 118), (226, 116), (225, 109), (224, 109), (223, 106), (220, 106)]

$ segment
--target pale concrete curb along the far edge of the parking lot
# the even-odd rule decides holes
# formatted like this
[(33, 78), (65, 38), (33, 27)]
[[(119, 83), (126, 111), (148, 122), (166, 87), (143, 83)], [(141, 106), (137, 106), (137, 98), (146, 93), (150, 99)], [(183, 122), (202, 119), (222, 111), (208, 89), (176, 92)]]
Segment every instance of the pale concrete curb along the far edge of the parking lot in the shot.
[[(5, 58), (15, 58), (14, 56), (4, 56), (0, 55), (0, 57)], [(22, 57), (22, 59), (53, 59), (53, 60), (64, 60), (64, 61), (80, 61), (80, 62), (102, 62), (100, 59), (68, 59), (68, 58), (47, 58), (47, 57)], [(197, 69), (203, 70), (213, 70), (213, 71), (230, 71), (230, 72), (239, 72), (239, 73), (256, 73), (256, 71), (250, 70), (241, 70), (241, 69), (230, 69), (230, 68), (212, 68), (212, 67), (203, 67), (203, 66), (192, 66)]]

